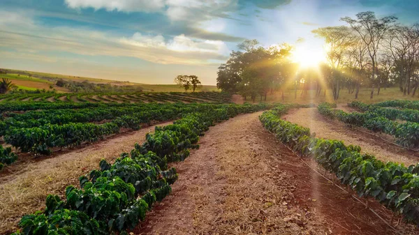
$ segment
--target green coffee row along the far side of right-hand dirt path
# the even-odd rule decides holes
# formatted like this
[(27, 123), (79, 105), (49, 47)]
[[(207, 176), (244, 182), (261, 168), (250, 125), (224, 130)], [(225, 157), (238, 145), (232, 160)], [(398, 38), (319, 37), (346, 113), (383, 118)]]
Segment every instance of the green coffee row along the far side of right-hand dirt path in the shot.
[(375, 112), (352, 112), (346, 113), (329, 103), (318, 105), (318, 112), (331, 119), (338, 119), (348, 125), (360, 126), (373, 132), (383, 132), (395, 137), (396, 142), (409, 148), (419, 147), (419, 123), (399, 123), (381, 116)]

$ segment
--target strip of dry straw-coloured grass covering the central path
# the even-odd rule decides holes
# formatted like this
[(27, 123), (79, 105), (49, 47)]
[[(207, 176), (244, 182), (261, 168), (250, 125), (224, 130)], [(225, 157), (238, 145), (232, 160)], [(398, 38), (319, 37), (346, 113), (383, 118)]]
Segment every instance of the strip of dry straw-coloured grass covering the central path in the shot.
[(260, 114), (212, 127), (200, 149), (174, 165), (172, 195), (134, 234), (325, 234), (321, 217), (295, 204), (295, 186), (267, 158), (273, 150), (256, 133), (265, 133)]

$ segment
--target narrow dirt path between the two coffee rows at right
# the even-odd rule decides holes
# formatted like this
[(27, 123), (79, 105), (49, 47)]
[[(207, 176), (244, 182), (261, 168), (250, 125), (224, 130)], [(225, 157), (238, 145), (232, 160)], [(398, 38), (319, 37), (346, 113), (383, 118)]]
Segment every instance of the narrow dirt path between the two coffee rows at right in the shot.
[(339, 139), (345, 144), (359, 145), (362, 152), (370, 153), (383, 162), (402, 162), (406, 166), (419, 162), (419, 153), (389, 144), (379, 137), (351, 129), (343, 123), (332, 122), (318, 114), (317, 108), (293, 109), (283, 119), (310, 128), (311, 133), (316, 133), (316, 137)]

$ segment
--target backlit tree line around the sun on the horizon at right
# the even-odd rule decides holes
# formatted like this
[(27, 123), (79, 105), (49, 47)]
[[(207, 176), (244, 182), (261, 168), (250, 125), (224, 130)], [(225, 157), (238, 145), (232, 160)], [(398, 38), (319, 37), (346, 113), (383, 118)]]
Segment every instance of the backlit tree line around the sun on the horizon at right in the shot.
[(261, 47), (257, 40), (245, 40), (230, 59), (219, 66), (217, 87), (255, 100), (266, 99), (270, 91), (293, 85), (302, 92), (331, 89), (335, 100), (341, 89), (358, 98), (361, 87), (380, 94), (381, 88), (399, 86), (404, 95), (415, 96), (419, 86), (419, 24), (402, 25), (395, 16), (376, 17), (361, 12), (355, 18), (342, 17), (342, 26), (312, 31), (325, 40), (326, 61), (318, 70), (301, 69), (290, 59), (294, 48), (281, 44)]

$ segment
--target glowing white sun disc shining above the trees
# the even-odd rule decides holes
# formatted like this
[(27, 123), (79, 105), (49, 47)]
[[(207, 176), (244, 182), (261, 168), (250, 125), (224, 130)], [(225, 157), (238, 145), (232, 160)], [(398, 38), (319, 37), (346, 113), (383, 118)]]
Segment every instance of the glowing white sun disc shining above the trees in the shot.
[(325, 62), (325, 52), (323, 48), (318, 47), (297, 47), (291, 55), (291, 59), (300, 65), (300, 68), (317, 68), (322, 62)]

